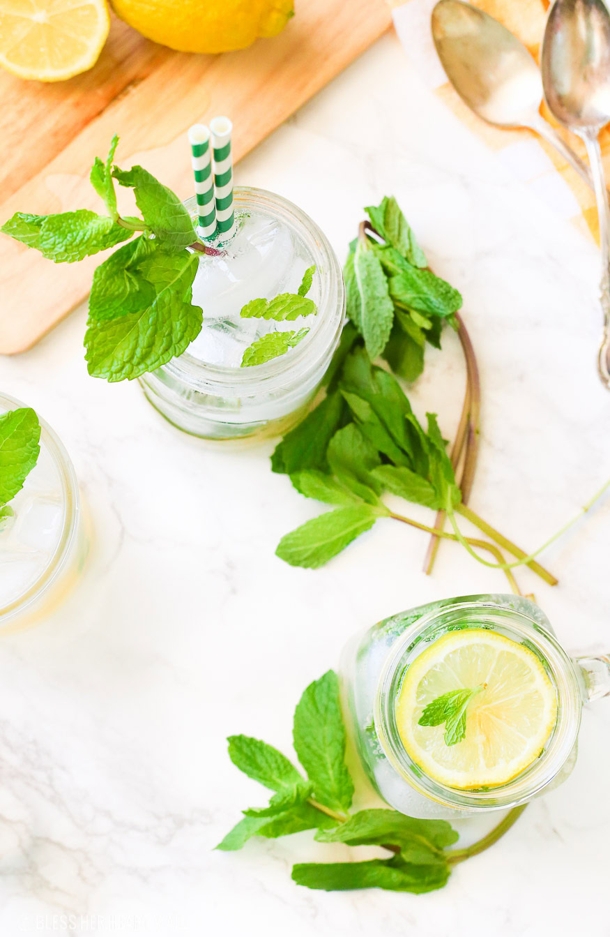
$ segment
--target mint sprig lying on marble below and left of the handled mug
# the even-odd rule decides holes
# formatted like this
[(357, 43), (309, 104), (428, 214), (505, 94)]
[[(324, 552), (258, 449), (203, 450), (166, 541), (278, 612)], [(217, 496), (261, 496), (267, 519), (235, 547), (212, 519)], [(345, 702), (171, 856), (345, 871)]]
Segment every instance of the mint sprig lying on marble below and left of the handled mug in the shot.
[(273, 791), (267, 807), (243, 811), (216, 847), (240, 849), (254, 836), (276, 839), (315, 829), (319, 842), (380, 846), (385, 859), (308, 862), (293, 867), (298, 885), (327, 891), (385, 888), (421, 893), (446, 885), (452, 867), (487, 849), (512, 825), (517, 808), (485, 840), (448, 850), (457, 832), (444, 820), (416, 820), (390, 809), (352, 812), (354, 781), (345, 764), (345, 726), (333, 671), (314, 680), (295, 709), (293, 740), (302, 774), (281, 751), (249, 736), (228, 739), (229, 757), (249, 778)]

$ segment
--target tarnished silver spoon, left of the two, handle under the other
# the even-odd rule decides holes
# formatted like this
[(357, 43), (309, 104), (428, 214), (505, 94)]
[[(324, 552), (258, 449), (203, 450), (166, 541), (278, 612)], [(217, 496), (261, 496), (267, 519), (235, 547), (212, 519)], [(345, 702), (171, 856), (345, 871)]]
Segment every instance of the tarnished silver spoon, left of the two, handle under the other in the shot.
[(544, 137), (593, 187), (587, 165), (539, 113), (540, 69), (520, 39), (482, 9), (440, 0), (432, 10), (432, 38), (459, 97), (487, 124), (528, 127)]

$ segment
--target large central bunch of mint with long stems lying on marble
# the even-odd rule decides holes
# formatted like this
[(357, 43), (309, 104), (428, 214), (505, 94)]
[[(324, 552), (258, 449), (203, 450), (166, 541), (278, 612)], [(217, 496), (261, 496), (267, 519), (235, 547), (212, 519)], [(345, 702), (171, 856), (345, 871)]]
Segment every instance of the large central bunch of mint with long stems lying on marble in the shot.
[[(394, 198), (366, 212), (370, 221), (360, 225), (345, 264), (350, 321), (325, 377), (326, 395), (271, 456), (273, 471), (289, 475), (300, 494), (334, 510), (286, 534), (277, 556), (293, 566), (322, 566), (377, 520), (390, 517), (459, 541), (480, 562), (500, 567), (516, 591), (512, 567), (520, 563), (554, 585), (555, 577), (532, 555), (466, 506), (436, 415), (427, 414), (425, 427), (415, 417), (398, 378), (419, 376), (425, 346), (440, 347), (445, 322), (463, 331), (457, 322), (461, 296), (426, 269)], [(385, 493), (446, 513), (454, 532), (391, 511)], [(464, 537), (457, 514), (487, 539)], [(482, 558), (476, 552), (481, 550), (495, 562)], [(505, 562), (501, 550), (516, 562)]]

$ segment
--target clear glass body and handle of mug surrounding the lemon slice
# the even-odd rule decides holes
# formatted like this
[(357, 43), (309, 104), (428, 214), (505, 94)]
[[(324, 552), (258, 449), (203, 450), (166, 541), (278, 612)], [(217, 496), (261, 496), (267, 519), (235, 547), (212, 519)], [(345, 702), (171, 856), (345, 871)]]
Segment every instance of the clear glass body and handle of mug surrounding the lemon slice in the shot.
[[(557, 695), (558, 717), (540, 756), (511, 781), (457, 789), (430, 778), (399, 736), (396, 701), (409, 665), (443, 634), (488, 629), (525, 644), (541, 660)], [(346, 721), (372, 786), (396, 810), (421, 818), (459, 819), (524, 804), (570, 773), (584, 702), (610, 692), (610, 657), (571, 659), (545, 613), (513, 595), (432, 602), (379, 622), (343, 651)]]

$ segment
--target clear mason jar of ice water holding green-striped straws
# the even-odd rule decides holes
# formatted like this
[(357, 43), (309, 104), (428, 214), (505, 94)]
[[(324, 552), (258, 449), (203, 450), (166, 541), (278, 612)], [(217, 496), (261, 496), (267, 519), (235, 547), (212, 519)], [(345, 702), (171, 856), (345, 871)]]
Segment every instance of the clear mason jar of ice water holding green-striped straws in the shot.
[[(196, 200), (184, 204), (196, 216)], [(139, 380), (153, 407), (170, 423), (205, 439), (283, 434), (305, 415), (341, 335), (345, 297), (341, 266), (322, 231), (286, 199), (263, 189), (236, 187), (237, 233), (200, 254), (193, 302), (203, 328), (179, 357)], [(317, 315), (286, 322), (240, 319), (259, 297), (297, 292), (315, 265), (308, 296)], [(217, 289), (214, 293), (214, 284)], [(206, 290), (210, 298), (200, 299)], [(294, 348), (265, 364), (241, 367), (253, 338), (286, 328), (309, 328)]]

